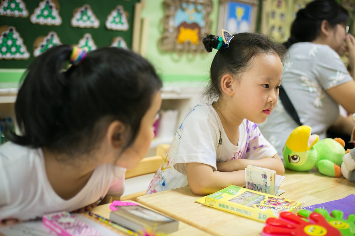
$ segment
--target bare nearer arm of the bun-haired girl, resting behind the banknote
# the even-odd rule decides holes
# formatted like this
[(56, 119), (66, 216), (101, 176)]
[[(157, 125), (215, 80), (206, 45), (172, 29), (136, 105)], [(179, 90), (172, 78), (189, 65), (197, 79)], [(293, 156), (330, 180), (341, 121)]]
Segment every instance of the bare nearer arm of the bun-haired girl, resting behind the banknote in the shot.
[(187, 182), (197, 195), (207, 195), (229, 185), (245, 186), (245, 173), (242, 171), (219, 172), (203, 163), (186, 163)]

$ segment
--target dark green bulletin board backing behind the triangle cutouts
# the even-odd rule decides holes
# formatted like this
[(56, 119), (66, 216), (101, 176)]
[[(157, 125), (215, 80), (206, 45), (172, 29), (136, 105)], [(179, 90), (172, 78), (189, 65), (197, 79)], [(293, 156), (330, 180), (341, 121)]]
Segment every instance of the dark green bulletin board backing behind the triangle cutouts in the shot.
[[(0, 0), (2, 2), (3, 0)], [(23, 69), (27, 68), (29, 63), (35, 58), (34, 41), (38, 36), (47, 36), (50, 31), (54, 31), (62, 44), (77, 45), (79, 40), (84, 37), (84, 34), (90, 33), (95, 45), (99, 47), (110, 46), (114, 38), (120, 36), (126, 42), (128, 48), (132, 46), (133, 34), (133, 19), (134, 9), (136, 2), (140, 0), (56, 0), (59, 3), (59, 16), (62, 23), (59, 26), (55, 25), (40, 25), (33, 24), (30, 21), (31, 15), (34, 13), (35, 8), (39, 7), (39, 3), (43, 0), (22, 0), (28, 10), (28, 16), (13, 17), (13, 16), (0, 16), (0, 28), (4, 25), (15, 27), (20, 37), (23, 39), (23, 44), (26, 46), (30, 57), (27, 60), (16, 59), (1, 59), (0, 69)], [(94, 15), (100, 21), (98, 28), (78, 28), (71, 26), (71, 19), (73, 11), (76, 8), (88, 4), (91, 7)], [(129, 28), (126, 31), (110, 30), (106, 28), (105, 21), (110, 15), (112, 10), (115, 10), (118, 5), (121, 5), (125, 12), (128, 13)], [(6, 81), (5, 74), (0, 71), (0, 82)]]

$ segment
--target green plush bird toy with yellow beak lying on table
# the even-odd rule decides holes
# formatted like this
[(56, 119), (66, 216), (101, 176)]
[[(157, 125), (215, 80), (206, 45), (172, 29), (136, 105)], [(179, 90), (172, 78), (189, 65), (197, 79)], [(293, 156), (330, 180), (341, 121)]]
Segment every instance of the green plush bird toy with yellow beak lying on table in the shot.
[(318, 135), (311, 135), (310, 126), (295, 128), (283, 149), (285, 167), (293, 171), (309, 171), (316, 167), (321, 174), (340, 177), (345, 154), (343, 145), (332, 138), (318, 139)]

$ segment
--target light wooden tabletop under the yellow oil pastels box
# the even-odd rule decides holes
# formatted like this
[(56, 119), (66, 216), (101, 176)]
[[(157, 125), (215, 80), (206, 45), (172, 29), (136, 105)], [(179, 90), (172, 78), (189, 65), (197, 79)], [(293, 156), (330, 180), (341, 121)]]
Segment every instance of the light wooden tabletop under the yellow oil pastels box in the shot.
[[(302, 202), (303, 206), (355, 194), (355, 183), (344, 177), (327, 177), (316, 170), (286, 170), (285, 177), (280, 189), (286, 192), (281, 196)], [(212, 235), (260, 235), (264, 223), (196, 203), (200, 197), (187, 186), (140, 196), (136, 201)]]

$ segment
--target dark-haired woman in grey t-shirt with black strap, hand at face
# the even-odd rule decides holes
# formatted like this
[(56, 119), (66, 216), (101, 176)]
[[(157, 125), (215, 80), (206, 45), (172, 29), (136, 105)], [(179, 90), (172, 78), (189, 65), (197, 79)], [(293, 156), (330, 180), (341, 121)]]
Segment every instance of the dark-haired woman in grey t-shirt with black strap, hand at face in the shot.
[[(292, 109), (280, 91), (282, 102), (259, 125), (281, 157), (289, 134), (301, 123), (311, 126), (312, 133), (320, 139), (326, 138), (328, 129), (350, 136), (355, 126), (352, 119), (339, 114), (339, 105), (355, 113), (355, 38), (347, 32), (348, 20), (349, 13), (334, 0), (315, 0), (297, 12), (291, 36), (284, 43), (288, 55), (282, 89), (300, 122), (286, 111)], [(339, 57), (344, 51), (344, 41), (348, 69)]]

